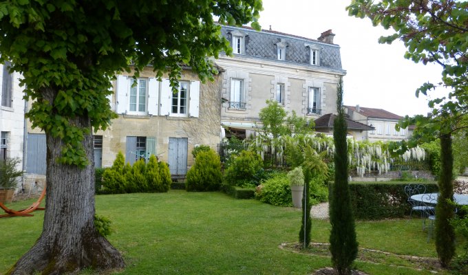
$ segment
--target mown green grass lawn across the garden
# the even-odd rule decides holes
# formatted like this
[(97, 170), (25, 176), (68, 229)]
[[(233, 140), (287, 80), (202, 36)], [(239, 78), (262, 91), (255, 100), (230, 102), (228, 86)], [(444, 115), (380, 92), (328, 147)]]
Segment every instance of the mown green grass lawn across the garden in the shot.
[[(17, 203), (9, 206), (17, 209)], [(301, 211), (295, 208), (220, 192), (171, 190), (97, 196), (96, 212), (112, 221), (109, 241), (127, 264), (118, 274), (311, 274), (331, 265), (328, 256), (279, 248), (298, 239)], [(41, 211), (0, 219), (0, 274), (34, 244), (42, 221)], [(329, 233), (328, 221), (312, 221), (312, 242), (328, 243)], [(357, 237), (361, 248), (436, 257), (434, 241), (426, 243), (418, 219), (358, 221)], [(398, 261), (357, 261), (356, 266), (368, 274), (428, 274), (396, 266)]]

